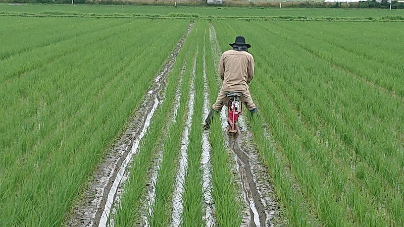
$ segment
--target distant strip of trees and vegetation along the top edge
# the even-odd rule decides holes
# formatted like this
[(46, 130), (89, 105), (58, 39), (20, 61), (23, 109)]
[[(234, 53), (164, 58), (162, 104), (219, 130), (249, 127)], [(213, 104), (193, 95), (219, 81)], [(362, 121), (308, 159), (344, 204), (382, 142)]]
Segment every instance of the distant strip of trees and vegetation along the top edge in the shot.
[[(173, 5), (175, 0), (132, 0), (132, 1), (117, 1), (117, 0), (74, 0), (74, 4), (90, 4), (90, 5)], [(71, 4), (72, 0), (0, 0), (3, 3), (40, 3), (40, 4)], [(358, 3), (325, 3), (325, 2), (268, 2), (268, 1), (223, 1), (223, 6), (227, 7), (267, 7), (267, 8), (279, 8), (282, 4), (282, 8), (345, 8), (345, 9), (388, 9), (390, 4), (387, 0), (382, 0), (378, 3), (375, 0), (362, 1)], [(208, 5), (206, 1), (181, 1), (178, 0), (179, 6), (213, 6)], [(392, 1), (391, 9), (404, 9), (404, 3), (398, 3)]]

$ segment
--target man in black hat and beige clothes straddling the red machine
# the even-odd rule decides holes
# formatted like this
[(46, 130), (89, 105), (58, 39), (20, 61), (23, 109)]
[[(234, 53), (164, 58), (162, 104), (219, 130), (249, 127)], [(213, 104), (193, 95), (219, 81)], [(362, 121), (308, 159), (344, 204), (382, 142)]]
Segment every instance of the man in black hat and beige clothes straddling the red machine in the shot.
[(226, 97), (227, 92), (242, 93), (241, 102), (248, 108), (251, 116), (257, 112), (257, 106), (252, 101), (248, 90), (248, 84), (254, 78), (254, 58), (248, 53), (251, 45), (245, 43), (243, 36), (237, 36), (236, 41), (229, 45), (233, 49), (224, 52), (219, 61), (219, 73), (223, 84), (218, 98), (205, 120), (206, 129), (209, 129), (214, 115), (222, 110), (223, 105), (227, 105), (229, 100)]

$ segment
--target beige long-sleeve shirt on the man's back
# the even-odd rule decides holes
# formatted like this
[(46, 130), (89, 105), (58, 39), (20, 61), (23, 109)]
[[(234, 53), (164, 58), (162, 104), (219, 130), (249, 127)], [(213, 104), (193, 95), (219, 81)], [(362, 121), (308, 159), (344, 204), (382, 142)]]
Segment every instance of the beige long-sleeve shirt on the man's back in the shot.
[(222, 91), (246, 91), (254, 78), (254, 58), (247, 51), (227, 50), (219, 61)]

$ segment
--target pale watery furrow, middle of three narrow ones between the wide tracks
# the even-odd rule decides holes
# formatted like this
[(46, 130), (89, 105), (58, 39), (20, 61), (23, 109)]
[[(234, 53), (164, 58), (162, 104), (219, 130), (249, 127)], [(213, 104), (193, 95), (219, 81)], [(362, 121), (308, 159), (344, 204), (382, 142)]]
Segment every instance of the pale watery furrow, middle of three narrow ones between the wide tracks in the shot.
[[(197, 52), (197, 50), (196, 50)], [(188, 143), (189, 143), (189, 130), (191, 129), (192, 125), (192, 116), (193, 116), (193, 105), (194, 105), (194, 98), (195, 98), (195, 87), (194, 87), (194, 81), (195, 81), (195, 74), (196, 74), (196, 54), (195, 54), (195, 59), (194, 63), (192, 66), (192, 79), (191, 79), (191, 85), (189, 89), (189, 100), (188, 100), (188, 113), (187, 113), (187, 119), (185, 121), (185, 128), (184, 132), (182, 134), (182, 141), (181, 141), (181, 147), (180, 147), (180, 160), (179, 160), (179, 169), (178, 169), (178, 174), (176, 178), (176, 188), (174, 191), (174, 196), (173, 196), (173, 214), (172, 214), (172, 223), (171, 226), (177, 227), (180, 225), (181, 222), (181, 215), (182, 211), (184, 209), (182, 205), (182, 192), (184, 191), (184, 183), (185, 183), (185, 175), (186, 175), (186, 170), (188, 167), (188, 155), (187, 155), (187, 150), (188, 150)]]

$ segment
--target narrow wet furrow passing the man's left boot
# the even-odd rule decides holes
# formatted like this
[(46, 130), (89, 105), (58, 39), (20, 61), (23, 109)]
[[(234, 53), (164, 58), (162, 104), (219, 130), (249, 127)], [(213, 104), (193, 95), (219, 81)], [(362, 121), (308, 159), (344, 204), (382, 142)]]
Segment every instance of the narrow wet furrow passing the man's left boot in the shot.
[[(204, 118), (202, 119), (202, 124), (204, 124), (204, 119), (208, 117), (209, 114), (209, 95), (208, 95), (208, 80), (206, 76), (206, 48), (205, 48), (205, 38), (204, 38)], [(212, 175), (210, 171), (210, 153), (212, 150), (211, 144), (209, 142), (209, 131), (205, 130), (202, 134), (202, 157), (200, 160), (200, 165), (203, 170), (203, 175), (202, 175), (202, 190), (203, 190), (203, 195), (204, 195), (204, 200), (205, 200), (205, 224), (207, 227), (212, 227), (215, 226), (215, 220), (213, 217), (213, 198), (212, 198)]]

